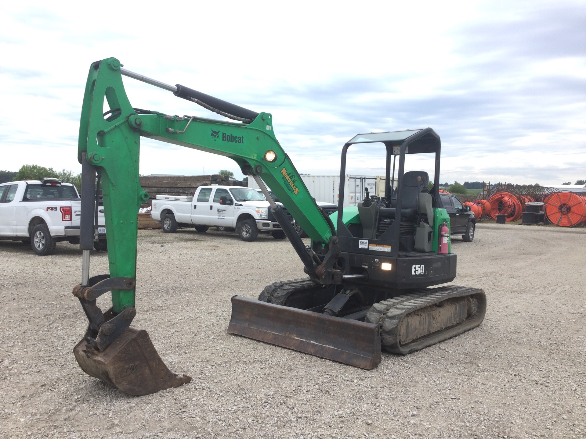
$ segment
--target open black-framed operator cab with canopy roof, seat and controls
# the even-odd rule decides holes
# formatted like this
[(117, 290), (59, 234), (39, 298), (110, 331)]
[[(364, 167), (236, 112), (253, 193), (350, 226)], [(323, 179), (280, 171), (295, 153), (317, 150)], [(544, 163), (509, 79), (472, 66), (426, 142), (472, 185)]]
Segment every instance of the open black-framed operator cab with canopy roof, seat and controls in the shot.
[[(350, 146), (363, 147), (361, 144), (364, 143), (383, 143), (386, 150), (384, 196), (366, 190), (356, 207), (344, 208), (343, 187), (340, 187), (338, 236), (343, 236), (347, 244), (350, 244), (347, 238), (377, 241), (373, 242), (374, 248), (389, 249), (385, 250), (389, 256), (398, 256), (400, 252), (431, 252), (434, 208), (439, 207), (436, 200), (440, 178), (440, 136), (431, 128), (356, 135), (342, 149), (340, 179), (346, 174), (347, 150)], [(406, 156), (426, 153), (435, 156), (431, 190), (427, 172), (405, 172)], [(391, 184), (393, 181), (397, 181), (396, 188)], [(342, 218), (349, 217), (353, 218), (346, 226)]]

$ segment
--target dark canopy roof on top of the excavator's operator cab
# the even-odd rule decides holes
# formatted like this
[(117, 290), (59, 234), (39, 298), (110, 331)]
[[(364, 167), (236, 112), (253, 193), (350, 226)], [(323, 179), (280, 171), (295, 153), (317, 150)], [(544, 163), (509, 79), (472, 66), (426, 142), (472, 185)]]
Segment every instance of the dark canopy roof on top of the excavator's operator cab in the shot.
[[(348, 140), (347, 145), (376, 142), (382, 142), (386, 146), (400, 146), (406, 143), (407, 154), (437, 152), (440, 149), (440, 136), (431, 128), (357, 134)], [(393, 153), (398, 154), (398, 151), (393, 149)]]

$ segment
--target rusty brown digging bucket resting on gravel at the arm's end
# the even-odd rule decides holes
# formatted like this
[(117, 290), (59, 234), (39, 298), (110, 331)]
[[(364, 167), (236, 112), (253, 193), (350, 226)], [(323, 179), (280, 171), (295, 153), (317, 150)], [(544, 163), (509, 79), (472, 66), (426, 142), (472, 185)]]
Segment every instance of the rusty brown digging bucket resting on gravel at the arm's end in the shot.
[(169, 371), (145, 330), (128, 328), (104, 351), (84, 338), (73, 353), (84, 372), (129, 395), (148, 395), (191, 381), (190, 376)]

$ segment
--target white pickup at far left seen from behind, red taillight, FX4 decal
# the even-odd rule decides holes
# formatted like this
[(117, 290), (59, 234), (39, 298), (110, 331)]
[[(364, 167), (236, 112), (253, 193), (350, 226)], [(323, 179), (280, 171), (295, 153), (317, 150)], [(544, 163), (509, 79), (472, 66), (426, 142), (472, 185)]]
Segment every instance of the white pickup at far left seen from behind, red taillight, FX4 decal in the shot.
[[(40, 256), (54, 252), (57, 241), (79, 244), (81, 198), (73, 184), (57, 179), (0, 184), (0, 239), (30, 243)], [(96, 250), (105, 250), (104, 207), (98, 208)]]

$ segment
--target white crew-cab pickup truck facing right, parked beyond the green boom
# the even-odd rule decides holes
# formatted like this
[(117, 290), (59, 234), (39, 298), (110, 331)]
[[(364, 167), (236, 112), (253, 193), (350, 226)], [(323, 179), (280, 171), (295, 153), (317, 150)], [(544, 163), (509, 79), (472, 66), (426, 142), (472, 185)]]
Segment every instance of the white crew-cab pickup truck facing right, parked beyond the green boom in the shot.
[[(285, 213), (293, 222), (291, 214)], [(268, 201), (247, 187), (200, 186), (193, 197), (158, 195), (152, 201), (151, 217), (161, 221), (166, 233), (178, 227), (195, 227), (198, 232), (219, 227), (236, 229), (243, 241), (254, 241), (259, 232), (285, 238)]]

